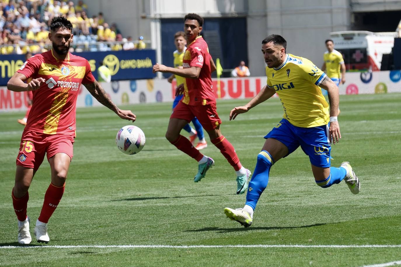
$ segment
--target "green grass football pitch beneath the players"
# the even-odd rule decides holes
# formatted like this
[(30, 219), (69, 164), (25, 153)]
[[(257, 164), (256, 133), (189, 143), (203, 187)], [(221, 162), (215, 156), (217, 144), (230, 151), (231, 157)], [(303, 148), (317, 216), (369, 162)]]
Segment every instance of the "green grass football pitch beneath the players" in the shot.
[[(217, 107), (223, 135), (253, 171), (263, 136), (283, 110), (273, 98), (229, 121), (229, 110), (246, 102), (221, 100)], [(342, 139), (332, 146), (332, 166), (350, 161), (361, 180), (359, 195), (344, 182), (318, 187), (308, 157), (298, 149), (272, 167), (247, 229), (223, 213), (225, 207), (243, 207), (245, 195), (235, 194), (235, 173), (209, 137), (201, 152), (216, 165), (194, 183), (197, 163), (164, 137), (171, 104), (122, 108), (137, 115), (144, 149), (121, 153), (115, 135), (130, 123), (107, 108), (79, 108), (66, 190), (48, 225), (51, 241), (38, 245), (33, 237), (50, 183), (45, 160), (29, 190), (32, 247), (18, 248), (8, 246), (18, 246), (11, 190), (23, 129), (16, 120), (23, 113), (0, 113), (0, 266), (320, 267), (401, 261), (401, 94), (340, 96)], [(99, 245), (116, 247), (94, 247)]]

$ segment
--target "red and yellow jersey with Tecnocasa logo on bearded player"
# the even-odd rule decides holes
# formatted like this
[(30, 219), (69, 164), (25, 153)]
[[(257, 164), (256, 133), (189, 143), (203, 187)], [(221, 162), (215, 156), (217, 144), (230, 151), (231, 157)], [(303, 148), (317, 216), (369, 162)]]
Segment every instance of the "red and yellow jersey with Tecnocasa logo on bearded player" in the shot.
[(68, 53), (58, 60), (53, 49), (26, 60), (17, 72), (27, 78), (44, 78), (45, 83), (33, 91), (33, 104), (25, 130), (49, 135), (75, 136), (75, 110), (81, 84), (95, 81), (89, 62)]

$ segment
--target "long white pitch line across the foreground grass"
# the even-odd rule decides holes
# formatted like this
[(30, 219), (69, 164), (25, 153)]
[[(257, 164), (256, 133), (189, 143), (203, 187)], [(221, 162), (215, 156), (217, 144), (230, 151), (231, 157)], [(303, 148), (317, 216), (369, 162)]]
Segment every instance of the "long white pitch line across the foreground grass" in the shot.
[[(136, 248), (168, 248), (168, 249), (198, 249), (198, 248), (401, 248), (401, 245), (30, 245), (30, 246), (0, 246), (0, 249), (32, 249), (32, 248), (49, 248), (49, 249), (75, 249), (75, 248), (118, 248), (118, 249), (136, 249)], [(388, 266), (388, 265), (383, 265)]]

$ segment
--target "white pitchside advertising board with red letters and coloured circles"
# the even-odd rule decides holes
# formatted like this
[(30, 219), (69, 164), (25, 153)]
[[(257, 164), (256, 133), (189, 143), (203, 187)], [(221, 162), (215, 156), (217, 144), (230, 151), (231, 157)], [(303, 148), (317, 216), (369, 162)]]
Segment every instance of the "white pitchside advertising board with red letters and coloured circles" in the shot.
[[(339, 86), (340, 94), (385, 94), (401, 92), (401, 70), (381, 72), (347, 73), (347, 82)], [(222, 99), (252, 98), (266, 84), (266, 76), (250, 78), (222, 78)], [(105, 91), (117, 105), (172, 102), (175, 83), (166, 79), (123, 80), (102, 84)], [(213, 80), (216, 88), (217, 80)], [(12, 92), (5, 86), (0, 87), (0, 112), (26, 110), (24, 92)], [(77, 107), (101, 106), (89, 92), (81, 86)]]

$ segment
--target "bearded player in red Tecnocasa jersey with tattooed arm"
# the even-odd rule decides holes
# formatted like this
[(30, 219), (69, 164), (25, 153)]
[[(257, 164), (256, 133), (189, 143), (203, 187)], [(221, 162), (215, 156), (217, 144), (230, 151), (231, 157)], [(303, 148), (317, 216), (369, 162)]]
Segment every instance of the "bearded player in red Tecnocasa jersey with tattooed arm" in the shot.
[[(49, 39), (53, 48), (26, 60), (7, 83), (8, 90), (33, 91), (33, 103), (22, 133), (17, 157), (12, 203), (18, 218), (18, 242), (29, 244), (29, 217), (26, 208), (32, 178), (45, 154), (51, 167), (51, 184), (46, 191), (34, 233), (38, 242), (48, 243), (47, 222), (64, 193), (69, 164), (73, 157), (75, 109), (78, 90), (83, 84), (104, 106), (120, 118), (135, 121), (130, 110), (120, 110), (93, 78), (89, 62), (70, 54), (72, 24), (64, 17), (51, 21)], [(32, 80), (24, 83), (28, 78)]]

